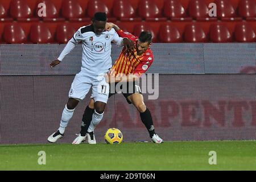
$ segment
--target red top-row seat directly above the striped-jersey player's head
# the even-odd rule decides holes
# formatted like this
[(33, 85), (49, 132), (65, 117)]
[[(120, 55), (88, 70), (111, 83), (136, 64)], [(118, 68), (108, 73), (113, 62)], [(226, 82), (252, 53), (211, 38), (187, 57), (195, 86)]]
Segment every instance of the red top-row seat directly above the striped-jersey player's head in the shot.
[(166, 18), (162, 17), (162, 11), (156, 6), (154, 0), (140, 0), (138, 14), (142, 19), (148, 21), (166, 21)]

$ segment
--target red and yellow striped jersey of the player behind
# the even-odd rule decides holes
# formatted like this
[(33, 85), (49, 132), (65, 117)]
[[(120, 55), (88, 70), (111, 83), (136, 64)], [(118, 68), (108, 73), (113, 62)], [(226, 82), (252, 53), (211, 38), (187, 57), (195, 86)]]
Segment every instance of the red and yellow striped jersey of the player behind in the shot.
[[(118, 35), (122, 38), (128, 38), (133, 40), (135, 45), (137, 45), (138, 37), (130, 34), (129, 32), (123, 32), (122, 30), (117, 31)], [(151, 66), (154, 60), (154, 56), (150, 48), (147, 49), (142, 55), (137, 55), (136, 48), (133, 53), (126, 53), (125, 49), (122, 49), (121, 54), (115, 61), (110, 74), (116, 76), (118, 74), (129, 75), (130, 73), (137, 73), (141, 75), (145, 73), (147, 69)]]

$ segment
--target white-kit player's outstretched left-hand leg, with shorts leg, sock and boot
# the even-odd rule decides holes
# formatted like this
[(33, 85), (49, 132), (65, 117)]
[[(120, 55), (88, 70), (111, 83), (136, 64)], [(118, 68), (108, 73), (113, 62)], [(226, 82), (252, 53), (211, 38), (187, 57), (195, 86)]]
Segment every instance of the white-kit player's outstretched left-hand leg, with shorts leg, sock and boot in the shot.
[(81, 73), (76, 75), (72, 82), (71, 89), (69, 90), (68, 102), (61, 115), (60, 127), (55, 133), (48, 137), (49, 142), (56, 142), (57, 139), (63, 137), (65, 128), (71, 120), (77, 104), (79, 104), (79, 101), (84, 99), (89, 92), (91, 86), (89, 82), (90, 78), (86, 78)]

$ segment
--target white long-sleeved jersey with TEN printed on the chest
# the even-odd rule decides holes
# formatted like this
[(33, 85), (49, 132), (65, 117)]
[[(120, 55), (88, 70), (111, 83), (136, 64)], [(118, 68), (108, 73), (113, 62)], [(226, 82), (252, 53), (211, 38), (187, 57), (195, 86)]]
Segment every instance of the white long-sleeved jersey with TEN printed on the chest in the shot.
[(81, 72), (91, 76), (101, 75), (108, 72), (112, 67), (111, 42), (122, 46), (122, 39), (115, 32), (114, 28), (104, 31), (101, 35), (95, 34), (93, 25), (79, 28), (69, 40), (67, 46), (59, 56), (61, 61), (67, 53), (80, 41), (82, 42), (82, 67)]

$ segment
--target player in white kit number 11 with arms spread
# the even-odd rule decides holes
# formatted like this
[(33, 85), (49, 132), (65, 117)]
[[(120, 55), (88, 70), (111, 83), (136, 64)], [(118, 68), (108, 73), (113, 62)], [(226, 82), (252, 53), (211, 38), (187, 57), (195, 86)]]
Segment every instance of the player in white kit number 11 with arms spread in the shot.
[(118, 46), (125, 46), (128, 49), (134, 45), (129, 39), (120, 38), (114, 28), (105, 31), (106, 20), (106, 13), (96, 13), (92, 19), (92, 24), (79, 28), (73, 38), (69, 40), (59, 58), (50, 64), (50, 67), (60, 64), (64, 56), (71, 52), (77, 43), (82, 42), (81, 71), (72, 82), (69, 99), (61, 116), (60, 127), (48, 137), (48, 142), (54, 143), (64, 136), (65, 128), (72, 118), (77, 104), (85, 98), (91, 86), (95, 102), (92, 119), (94, 122), (100, 123), (103, 117), (109, 96), (109, 84), (106, 83), (104, 74), (112, 67), (111, 42)]

